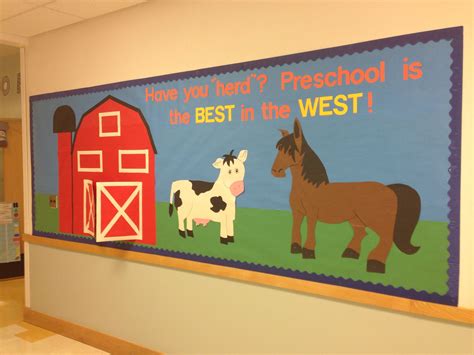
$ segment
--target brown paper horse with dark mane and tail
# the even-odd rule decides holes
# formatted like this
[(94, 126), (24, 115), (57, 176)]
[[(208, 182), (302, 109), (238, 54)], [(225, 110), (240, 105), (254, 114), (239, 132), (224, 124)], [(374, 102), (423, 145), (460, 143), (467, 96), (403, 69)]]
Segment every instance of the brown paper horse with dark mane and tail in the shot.
[[(342, 257), (358, 259), (366, 227), (379, 236), (377, 246), (370, 252), (367, 271), (385, 272), (385, 261), (392, 244), (406, 254), (419, 247), (411, 244), (411, 236), (420, 217), (420, 196), (410, 186), (383, 185), (378, 182), (330, 183), (323, 163), (306, 142), (298, 119), (293, 133), (280, 130), (282, 138), (272, 167), (275, 177), (285, 176), (290, 168), (292, 187), (290, 207), (293, 213), (291, 253), (301, 253), (314, 259), (316, 222), (349, 222), (354, 231)], [(308, 231), (301, 247), (301, 224), (307, 219)]]

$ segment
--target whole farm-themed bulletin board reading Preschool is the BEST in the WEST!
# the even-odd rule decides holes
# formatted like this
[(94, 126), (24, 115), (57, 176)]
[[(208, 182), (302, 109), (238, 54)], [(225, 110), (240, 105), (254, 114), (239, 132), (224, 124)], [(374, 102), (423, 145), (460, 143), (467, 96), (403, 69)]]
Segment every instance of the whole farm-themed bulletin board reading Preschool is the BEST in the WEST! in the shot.
[(32, 96), (33, 234), (456, 306), (462, 33)]

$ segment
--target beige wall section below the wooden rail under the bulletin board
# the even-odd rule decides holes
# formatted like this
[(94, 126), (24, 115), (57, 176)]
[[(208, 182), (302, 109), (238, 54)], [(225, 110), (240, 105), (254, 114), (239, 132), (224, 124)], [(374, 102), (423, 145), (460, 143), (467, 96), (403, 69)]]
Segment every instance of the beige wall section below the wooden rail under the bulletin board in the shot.
[(472, 354), (473, 329), (30, 245), (31, 308), (167, 354)]

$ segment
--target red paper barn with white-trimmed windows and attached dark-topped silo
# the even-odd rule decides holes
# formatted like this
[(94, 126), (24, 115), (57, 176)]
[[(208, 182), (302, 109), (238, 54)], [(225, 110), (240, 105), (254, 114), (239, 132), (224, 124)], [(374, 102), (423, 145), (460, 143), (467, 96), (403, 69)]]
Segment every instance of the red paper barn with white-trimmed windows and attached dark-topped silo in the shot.
[(154, 245), (156, 148), (141, 111), (108, 96), (76, 129), (74, 112), (61, 106), (53, 131), (58, 134), (60, 232)]

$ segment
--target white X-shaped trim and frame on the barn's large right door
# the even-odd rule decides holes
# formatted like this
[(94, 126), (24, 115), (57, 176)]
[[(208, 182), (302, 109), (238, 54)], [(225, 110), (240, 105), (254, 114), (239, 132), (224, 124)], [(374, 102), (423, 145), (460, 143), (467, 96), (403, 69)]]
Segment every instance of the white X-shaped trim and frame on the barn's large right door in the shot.
[[(130, 194), (129, 198), (127, 201), (125, 201), (121, 206), (115, 201), (115, 198), (110, 195), (110, 193), (107, 191), (107, 187), (110, 186), (125, 186), (125, 187), (135, 187), (135, 190)], [(135, 193), (138, 196), (135, 196)], [(105, 194), (107, 195), (107, 199), (109, 202), (114, 205), (116, 208), (116, 213), (114, 218), (112, 218), (111, 221), (109, 221), (109, 224), (105, 226), (104, 231), (102, 230), (102, 195)], [(132, 198), (133, 197), (133, 198)], [(110, 226), (112, 221), (117, 222), (118, 218), (127, 215), (125, 210), (126, 208), (130, 205), (130, 203), (133, 202), (135, 198), (138, 197), (138, 226), (132, 221), (133, 225), (138, 229), (136, 235), (128, 235), (128, 236), (119, 236), (119, 237), (107, 237), (107, 233), (110, 231), (110, 229), (113, 228), (113, 225)], [(112, 198), (113, 201), (110, 199)], [(125, 206), (125, 207), (124, 207)], [(117, 218), (117, 215), (118, 218)], [(143, 184), (141, 181), (127, 181), (127, 182), (119, 182), (119, 181), (113, 181), (113, 182), (98, 182), (96, 183), (96, 241), (97, 242), (113, 242), (117, 240), (143, 240)], [(127, 215), (128, 216), (128, 215)], [(127, 221), (127, 223), (130, 225), (132, 229), (135, 229), (134, 226), (130, 224), (130, 221)]]

